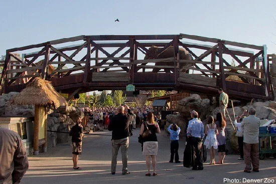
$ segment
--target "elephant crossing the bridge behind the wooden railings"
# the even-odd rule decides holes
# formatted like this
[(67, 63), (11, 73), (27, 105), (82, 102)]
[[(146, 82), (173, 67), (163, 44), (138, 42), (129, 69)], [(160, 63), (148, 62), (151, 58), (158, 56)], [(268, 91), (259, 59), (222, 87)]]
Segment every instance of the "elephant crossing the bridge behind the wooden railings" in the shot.
[[(144, 58), (144, 60), (147, 60), (147, 59), (162, 59), (162, 58), (172, 58), (174, 57), (174, 47), (173, 46), (170, 46), (168, 47), (165, 51), (163, 51), (161, 54), (158, 55), (159, 51), (161, 50), (162, 48), (161, 47), (157, 47), (157, 46), (152, 46), (149, 48), (149, 51), (155, 55), (155, 58), (153, 58), (152, 56), (150, 56), (150, 54), (147, 52), (146, 53), (146, 56)], [(182, 48), (179, 48), (178, 50), (179, 52), (179, 59), (180, 60), (193, 60), (191, 54), (186, 51), (185, 49), (182, 49)], [(174, 66), (174, 62), (158, 62), (158, 63), (155, 63), (156, 66)], [(185, 64), (184, 64), (185, 65)], [(182, 64), (182, 66), (184, 66)], [(190, 64), (187, 63), (185, 66), (189, 66)], [(157, 73), (161, 70), (161, 68), (154, 68), (153, 69), (153, 73)], [(170, 73), (170, 69), (167, 69), (165, 68), (164, 69), (166, 73)], [(182, 70), (181, 72), (185, 72), (186, 70)]]

